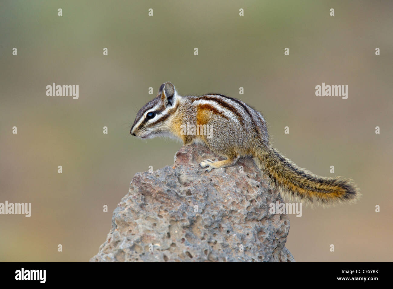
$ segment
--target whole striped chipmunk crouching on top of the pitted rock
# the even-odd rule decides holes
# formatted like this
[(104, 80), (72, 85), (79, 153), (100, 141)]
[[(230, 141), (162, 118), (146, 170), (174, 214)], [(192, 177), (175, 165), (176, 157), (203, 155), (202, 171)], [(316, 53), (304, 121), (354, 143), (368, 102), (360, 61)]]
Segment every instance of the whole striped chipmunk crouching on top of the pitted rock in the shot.
[[(182, 125), (190, 123), (213, 128), (206, 135), (184, 134)], [(139, 138), (169, 136), (180, 138), (184, 145), (201, 143), (226, 160), (204, 160), (199, 165), (212, 169), (236, 164), (241, 156), (250, 156), (266, 175), (269, 185), (295, 200), (320, 204), (353, 202), (360, 193), (351, 180), (319, 177), (299, 168), (269, 143), (262, 114), (243, 101), (220, 94), (180, 96), (174, 85), (163, 83), (157, 97), (145, 104), (136, 115), (130, 134)]]

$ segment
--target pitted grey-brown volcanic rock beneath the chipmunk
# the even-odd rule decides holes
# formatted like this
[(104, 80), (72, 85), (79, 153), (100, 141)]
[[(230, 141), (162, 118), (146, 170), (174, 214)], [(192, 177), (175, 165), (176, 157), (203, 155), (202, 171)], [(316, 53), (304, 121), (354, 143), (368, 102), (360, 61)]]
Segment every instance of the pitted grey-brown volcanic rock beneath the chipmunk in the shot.
[(90, 261), (294, 261), (288, 216), (269, 213), (283, 200), (252, 158), (209, 173), (198, 167), (208, 158), (217, 156), (184, 146), (173, 166), (137, 173)]

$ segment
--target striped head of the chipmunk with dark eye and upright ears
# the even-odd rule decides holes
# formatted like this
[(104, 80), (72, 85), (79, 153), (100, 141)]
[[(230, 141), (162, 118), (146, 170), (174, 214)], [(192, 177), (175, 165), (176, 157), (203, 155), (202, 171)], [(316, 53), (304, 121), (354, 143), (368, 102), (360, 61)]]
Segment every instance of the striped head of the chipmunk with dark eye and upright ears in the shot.
[(163, 83), (158, 89), (157, 97), (146, 103), (136, 114), (130, 134), (139, 138), (170, 136), (169, 118), (176, 111), (179, 98), (172, 83)]

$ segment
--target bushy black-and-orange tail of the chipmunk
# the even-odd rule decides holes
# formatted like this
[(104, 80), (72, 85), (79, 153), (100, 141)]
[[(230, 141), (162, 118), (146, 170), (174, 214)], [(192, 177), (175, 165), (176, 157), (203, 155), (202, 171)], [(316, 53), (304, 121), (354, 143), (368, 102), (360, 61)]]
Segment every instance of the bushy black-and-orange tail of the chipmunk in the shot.
[(257, 149), (254, 160), (271, 185), (295, 200), (332, 205), (354, 202), (360, 197), (358, 188), (351, 180), (314, 175), (306, 169), (298, 168), (273, 147)]

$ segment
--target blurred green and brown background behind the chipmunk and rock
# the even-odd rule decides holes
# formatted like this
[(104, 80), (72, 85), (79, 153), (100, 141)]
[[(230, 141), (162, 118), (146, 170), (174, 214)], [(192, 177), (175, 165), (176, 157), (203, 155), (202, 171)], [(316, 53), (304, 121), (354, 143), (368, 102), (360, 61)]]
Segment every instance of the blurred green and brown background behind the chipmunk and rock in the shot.
[[(30, 218), (0, 215), (0, 261), (97, 254), (134, 174), (173, 164), (181, 146), (129, 134), (165, 81), (181, 95), (241, 98), (264, 114), (274, 146), (296, 164), (323, 176), (333, 165), (358, 184), (357, 204), (290, 215), (286, 247), (295, 260), (392, 260), (391, 1), (0, 5), (0, 202), (32, 203)], [(53, 82), (79, 85), (79, 99), (46, 96)], [(323, 82), (348, 85), (348, 99), (315, 96)]]

